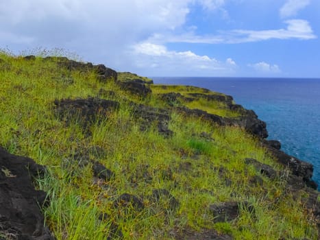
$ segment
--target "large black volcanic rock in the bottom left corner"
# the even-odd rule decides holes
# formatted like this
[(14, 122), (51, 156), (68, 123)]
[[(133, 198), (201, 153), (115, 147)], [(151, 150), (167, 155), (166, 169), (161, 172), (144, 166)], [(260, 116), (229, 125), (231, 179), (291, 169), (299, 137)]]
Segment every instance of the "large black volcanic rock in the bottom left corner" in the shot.
[(40, 211), (46, 193), (36, 191), (32, 178), (45, 168), (0, 147), (0, 235), (10, 239), (54, 239)]

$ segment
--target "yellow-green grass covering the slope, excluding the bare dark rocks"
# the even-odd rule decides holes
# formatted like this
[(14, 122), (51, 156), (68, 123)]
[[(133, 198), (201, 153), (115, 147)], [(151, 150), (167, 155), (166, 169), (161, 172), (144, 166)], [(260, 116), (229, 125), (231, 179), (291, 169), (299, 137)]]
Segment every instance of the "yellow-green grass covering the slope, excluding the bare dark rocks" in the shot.
[[(0, 145), (47, 166), (48, 174), (37, 187), (49, 194), (51, 202), (43, 213), (59, 240), (106, 239), (114, 228), (124, 239), (176, 239), (185, 231), (206, 230), (234, 239), (317, 239), (317, 226), (300, 201), (304, 193), (293, 200), (285, 191), (285, 174), (267, 178), (245, 165), (245, 158), (254, 158), (285, 172), (251, 134), (173, 111), (173, 135), (164, 137), (156, 123), (141, 130), (127, 101), (164, 106), (157, 94), (188, 97), (201, 88), (151, 85), (153, 95), (141, 99), (112, 81), (99, 82), (93, 71), (69, 71), (55, 58), (30, 61), (7, 53), (0, 53), (0, 86)], [(100, 116), (88, 130), (76, 119), (60, 121), (55, 100), (103, 98), (101, 89), (117, 93), (112, 100), (119, 101), (118, 110)], [(189, 107), (232, 115), (223, 104), (208, 105), (201, 99)], [(90, 161), (82, 165), (79, 156)], [(94, 178), (91, 160), (105, 165), (114, 178)], [(263, 184), (252, 183), (257, 176)], [(166, 189), (171, 198), (155, 202), (155, 189)], [(123, 193), (138, 197), (144, 208), (116, 206)], [(174, 207), (172, 197), (178, 202)], [(214, 223), (210, 206), (221, 202), (248, 202), (254, 213), (241, 206), (237, 219)]]

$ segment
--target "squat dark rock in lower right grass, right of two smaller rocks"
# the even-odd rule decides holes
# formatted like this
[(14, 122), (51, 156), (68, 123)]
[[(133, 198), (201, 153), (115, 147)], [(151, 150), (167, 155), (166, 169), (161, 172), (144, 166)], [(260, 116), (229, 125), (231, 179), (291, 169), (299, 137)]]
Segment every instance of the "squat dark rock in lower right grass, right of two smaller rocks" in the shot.
[[(223, 202), (221, 204), (212, 204), (210, 206), (210, 211), (213, 213), (214, 222), (232, 221), (238, 217), (240, 214), (238, 202)], [(254, 212), (254, 207), (249, 205), (247, 202), (243, 203), (245, 208), (252, 213)]]

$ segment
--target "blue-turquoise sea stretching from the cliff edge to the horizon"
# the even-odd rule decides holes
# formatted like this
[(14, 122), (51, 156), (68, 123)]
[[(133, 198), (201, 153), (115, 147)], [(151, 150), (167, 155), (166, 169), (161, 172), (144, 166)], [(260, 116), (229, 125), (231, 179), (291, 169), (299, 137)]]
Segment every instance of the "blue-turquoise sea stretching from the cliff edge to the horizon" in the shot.
[(155, 84), (183, 84), (231, 95), (267, 123), (268, 139), (282, 151), (314, 165), (320, 184), (320, 79), (152, 77)]

